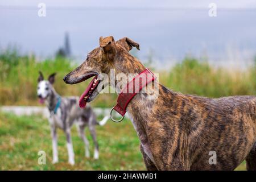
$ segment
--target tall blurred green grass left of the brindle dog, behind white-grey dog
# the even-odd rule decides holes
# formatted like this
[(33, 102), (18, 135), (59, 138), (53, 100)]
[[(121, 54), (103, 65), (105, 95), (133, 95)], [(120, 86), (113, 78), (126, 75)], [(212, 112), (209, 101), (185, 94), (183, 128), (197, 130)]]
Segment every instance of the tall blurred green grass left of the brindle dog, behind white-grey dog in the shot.
[[(15, 49), (0, 52), (0, 105), (39, 105), (36, 96), (39, 71), (46, 80), (51, 73), (57, 73), (54, 88), (61, 96), (80, 96), (90, 80), (76, 85), (63, 81), (63, 77), (77, 66), (63, 57), (38, 61), (34, 55), (21, 56)], [(116, 97), (115, 94), (100, 94), (92, 105), (110, 107)]]

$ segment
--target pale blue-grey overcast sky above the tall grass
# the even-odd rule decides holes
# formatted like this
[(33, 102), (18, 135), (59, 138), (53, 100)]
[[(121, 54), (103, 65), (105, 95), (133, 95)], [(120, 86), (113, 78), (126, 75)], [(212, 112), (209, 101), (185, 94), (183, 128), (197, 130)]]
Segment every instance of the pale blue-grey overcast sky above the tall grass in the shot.
[[(38, 3), (46, 4), (39, 17)], [(209, 3), (217, 17), (209, 17)], [(249, 59), (256, 54), (256, 1), (0, 1), (0, 47), (53, 55), (69, 32), (72, 53), (86, 57), (100, 36), (127, 36), (158, 60), (181, 60), (186, 54), (209, 59)], [(238, 58), (237, 58), (238, 57)], [(233, 58), (232, 58), (233, 59)]]

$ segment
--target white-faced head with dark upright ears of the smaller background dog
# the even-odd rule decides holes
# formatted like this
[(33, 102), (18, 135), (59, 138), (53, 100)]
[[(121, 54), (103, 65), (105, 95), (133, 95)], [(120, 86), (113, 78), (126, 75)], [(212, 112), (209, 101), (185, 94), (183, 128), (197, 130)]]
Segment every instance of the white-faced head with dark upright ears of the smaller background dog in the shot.
[(43, 104), (44, 101), (52, 93), (52, 89), (53, 89), (52, 84), (55, 81), (55, 75), (56, 75), (56, 73), (52, 73), (48, 77), (48, 80), (44, 80), (43, 73), (39, 71), (37, 93), (38, 93), (39, 102), (41, 104)]

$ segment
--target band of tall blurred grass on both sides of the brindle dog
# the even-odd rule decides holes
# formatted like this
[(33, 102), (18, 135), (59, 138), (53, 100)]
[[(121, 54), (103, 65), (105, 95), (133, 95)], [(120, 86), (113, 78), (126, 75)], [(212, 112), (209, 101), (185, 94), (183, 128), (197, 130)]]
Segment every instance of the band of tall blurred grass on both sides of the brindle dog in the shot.
[[(56, 57), (37, 61), (35, 56), (20, 56), (17, 51), (0, 53), (0, 105), (38, 105), (36, 85), (38, 71), (47, 78), (57, 72), (54, 87), (61, 96), (80, 96), (88, 81), (68, 85), (63, 77), (77, 67), (70, 60)], [(154, 70), (154, 68), (152, 68)], [(159, 73), (160, 82), (184, 94), (205, 97), (256, 95), (256, 59), (253, 67), (244, 71), (214, 68), (205, 61), (185, 57), (181, 63)], [(89, 80), (90, 81), (90, 80)], [(92, 102), (97, 107), (112, 107), (117, 94), (100, 94)]]

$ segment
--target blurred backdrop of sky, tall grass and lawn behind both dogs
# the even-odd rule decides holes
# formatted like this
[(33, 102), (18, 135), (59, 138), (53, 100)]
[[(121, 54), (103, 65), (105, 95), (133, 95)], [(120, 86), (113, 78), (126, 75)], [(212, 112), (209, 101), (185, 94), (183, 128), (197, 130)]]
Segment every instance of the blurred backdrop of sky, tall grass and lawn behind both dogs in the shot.
[[(46, 5), (45, 16), (40, 16), (40, 3)], [(217, 7), (216, 16), (209, 15), (210, 3)], [(42, 106), (36, 98), (39, 70), (45, 76), (57, 72), (55, 89), (61, 96), (80, 96), (87, 83), (71, 86), (62, 78), (99, 46), (100, 36), (109, 35), (138, 42), (141, 51), (131, 53), (176, 92), (212, 98), (255, 95), (255, 19), (253, 0), (0, 1), (0, 106)], [(92, 105), (109, 108), (115, 98), (100, 94)], [(59, 132), (63, 152), (60, 164), (52, 165), (47, 119), (1, 112), (0, 169), (145, 169), (128, 119), (97, 130), (100, 160), (84, 158), (73, 132), (77, 164), (69, 166)], [(45, 166), (37, 163), (39, 150), (47, 152)]]

